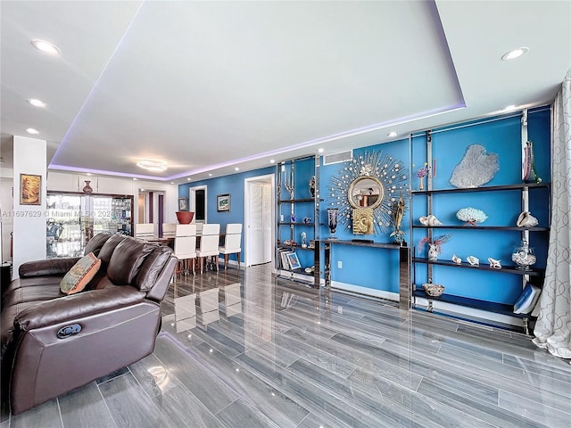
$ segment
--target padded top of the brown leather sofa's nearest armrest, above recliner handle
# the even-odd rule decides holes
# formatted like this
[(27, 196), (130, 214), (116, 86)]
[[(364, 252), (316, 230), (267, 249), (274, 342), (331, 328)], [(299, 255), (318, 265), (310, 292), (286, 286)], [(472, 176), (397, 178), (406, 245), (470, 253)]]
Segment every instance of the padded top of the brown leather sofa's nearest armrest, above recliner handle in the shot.
[(139, 292), (130, 285), (79, 292), (60, 299), (47, 300), (22, 311), (14, 320), (14, 325), (26, 332), (125, 307), (142, 300), (145, 300), (145, 292)]

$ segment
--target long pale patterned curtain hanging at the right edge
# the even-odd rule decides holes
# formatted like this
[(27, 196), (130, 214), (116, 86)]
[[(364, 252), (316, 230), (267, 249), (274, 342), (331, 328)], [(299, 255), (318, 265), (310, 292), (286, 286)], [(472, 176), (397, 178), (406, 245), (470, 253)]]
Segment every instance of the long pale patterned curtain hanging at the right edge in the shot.
[(553, 104), (551, 131), (550, 244), (533, 342), (571, 358), (571, 70)]

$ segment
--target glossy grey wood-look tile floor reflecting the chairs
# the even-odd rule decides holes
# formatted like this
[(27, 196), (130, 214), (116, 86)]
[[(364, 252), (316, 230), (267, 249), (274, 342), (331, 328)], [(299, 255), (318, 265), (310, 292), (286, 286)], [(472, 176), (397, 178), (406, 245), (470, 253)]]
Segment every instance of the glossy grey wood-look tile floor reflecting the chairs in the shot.
[(152, 355), (0, 428), (571, 426), (571, 366), (523, 334), (268, 265), (178, 278), (162, 309)]

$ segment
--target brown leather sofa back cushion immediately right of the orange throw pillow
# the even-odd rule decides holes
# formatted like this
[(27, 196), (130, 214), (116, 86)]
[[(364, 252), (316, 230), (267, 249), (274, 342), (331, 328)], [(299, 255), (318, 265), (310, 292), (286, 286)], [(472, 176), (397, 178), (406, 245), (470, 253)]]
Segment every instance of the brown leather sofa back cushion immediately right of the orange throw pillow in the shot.
[(113, 251), (111, 259), (109, 260), (109, 266), (107, 266), (107, 276), (113, 284), (131, 284), (133, 278), (137, 276), (146, 256), (155, 248), (156, 245), (144, 243), (137, 239), (124, 239), (117, 245), (115, 251)]

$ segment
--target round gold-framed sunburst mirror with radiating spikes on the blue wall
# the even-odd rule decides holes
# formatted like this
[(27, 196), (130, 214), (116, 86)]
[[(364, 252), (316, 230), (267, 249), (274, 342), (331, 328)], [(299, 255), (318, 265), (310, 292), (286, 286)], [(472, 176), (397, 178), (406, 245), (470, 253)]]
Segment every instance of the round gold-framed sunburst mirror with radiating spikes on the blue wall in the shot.
[(409, 194), (409, 171), (393, 156), (365, 152), (343, 162), (328, 190), (327, 200), (339, 209), (337, 221), (345, 229), (355, 235), (385, 233), (393, 207)]

